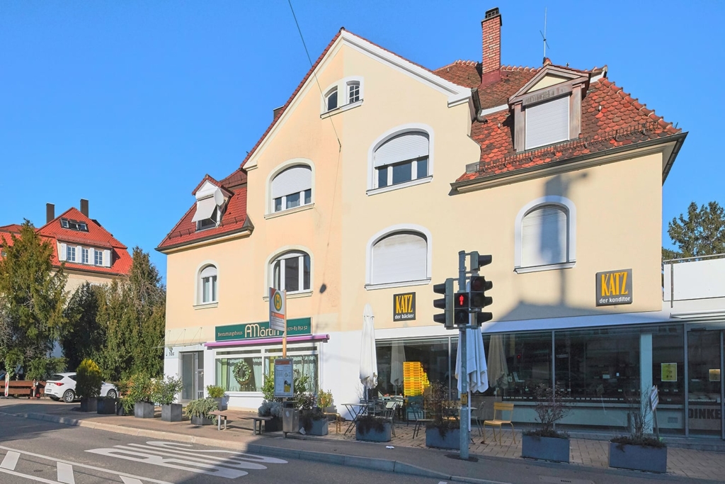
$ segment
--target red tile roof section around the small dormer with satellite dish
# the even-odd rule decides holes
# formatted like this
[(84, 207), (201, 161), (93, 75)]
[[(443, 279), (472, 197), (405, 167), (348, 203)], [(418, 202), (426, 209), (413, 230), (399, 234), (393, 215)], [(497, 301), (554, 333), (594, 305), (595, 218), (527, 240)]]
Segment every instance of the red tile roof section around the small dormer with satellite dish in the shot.
[[(231, 234), (235, 231), (239, 231), (243, 228), (249, 227), (247, 218), (247, 173), (244, 173), (241, 169), (234, 171), (230, 176), (227, 176), (222, 181), (215, 181), (209, 175), (204, 177), (202, 183), (209, 179), (215, 184), (218, 184), (220, 188), (231, 193), (229, 197), (226, 210), (222, 216), (222, 221), (219, 226), (212, 229), (196, 230), (196, 222), (193, 222), (194, 213), (196, 212), (196, 202), (191, 205), (186, 211), (186, 214), (181, 218), (173, 229), (167, 234), (166, 237), (161, 241), (157, 250), (165, 250), (171, 247), (178, 247), (180, 245), (186, 245), (190, 242), (196, 242), (200, 240), (210, 239), (212, 237), (219, 237), (220, 235)], [(242, 186), (239, 186), (242, 184)], [(199, 189), (199, 186), (196, 189)], [(234, 188), (237, 187), (237, 188)], [(194, 190), (196, 192), (196, 190)]]

